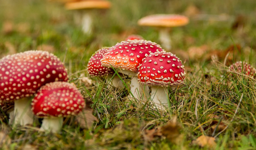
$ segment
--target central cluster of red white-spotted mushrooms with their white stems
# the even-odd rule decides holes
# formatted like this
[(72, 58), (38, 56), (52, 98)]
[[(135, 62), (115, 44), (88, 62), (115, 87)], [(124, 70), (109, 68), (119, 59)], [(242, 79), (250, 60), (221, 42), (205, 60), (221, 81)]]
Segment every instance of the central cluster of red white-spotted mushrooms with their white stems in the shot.
[[(131, 98), (142, 102), (152, 100), (158, 109), (164, 109), (168, 104), (166, 87), (184, 84), (186, 74), (176, 55), (166, 52), (155, 42), (133, 36), (110, 48), (99, 49), (88, 62), (88, 72), (92, 77), (112, 78), (113, 69), (132, 78)], [(118, 76), (113, 77), (112, 85), (124, 87)], [(152, 86), (151, 94), (148, 86)]]

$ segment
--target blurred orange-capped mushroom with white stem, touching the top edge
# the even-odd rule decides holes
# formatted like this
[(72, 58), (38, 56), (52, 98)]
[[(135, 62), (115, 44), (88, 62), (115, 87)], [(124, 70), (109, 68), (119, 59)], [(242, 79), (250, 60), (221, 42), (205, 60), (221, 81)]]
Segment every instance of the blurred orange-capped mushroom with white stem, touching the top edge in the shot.
[[(74, 20), (82, 25), (82, 30), (86, 34), (92, 33), (92, 16), (88, 9), (108, 9), (111, 3), (104, 0), (86, 0), (66, 3), (66, 9), (77, 10)], [(86, 10), (87, 9), (87, 10)]]

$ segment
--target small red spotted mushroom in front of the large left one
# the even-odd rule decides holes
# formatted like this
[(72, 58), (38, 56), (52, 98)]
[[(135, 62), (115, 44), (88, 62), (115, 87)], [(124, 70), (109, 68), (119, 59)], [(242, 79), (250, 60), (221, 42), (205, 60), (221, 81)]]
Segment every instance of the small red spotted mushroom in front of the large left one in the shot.
[(76, 115), (85, 106), (79, 90), (67, 82), (51, 82), (42, 86), (32, 100), (32, 111), (37, 117), (44, 118), (42, 131), (59, 132), (63, 117)]

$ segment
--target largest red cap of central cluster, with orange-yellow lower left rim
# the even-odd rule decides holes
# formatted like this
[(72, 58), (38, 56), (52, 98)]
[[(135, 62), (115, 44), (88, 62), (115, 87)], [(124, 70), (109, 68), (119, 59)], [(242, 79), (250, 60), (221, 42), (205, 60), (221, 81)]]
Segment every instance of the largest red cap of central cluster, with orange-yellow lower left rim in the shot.
[(112, 46), (101, 60), (102, 66), (138, 71), (142, 59), (151, 52), (164, 51), (160, 45), (147, 40), (127, 40)]

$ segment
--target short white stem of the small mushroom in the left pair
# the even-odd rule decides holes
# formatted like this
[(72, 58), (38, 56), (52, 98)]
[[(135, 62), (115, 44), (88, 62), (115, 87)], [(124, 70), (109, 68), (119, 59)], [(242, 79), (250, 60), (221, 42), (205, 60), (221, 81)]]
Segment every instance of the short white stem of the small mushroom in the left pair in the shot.
[(44, 118), (40, 130), (57, 133), (60, 132), (62, 124), (63, 117)]

